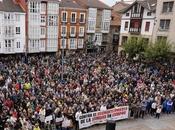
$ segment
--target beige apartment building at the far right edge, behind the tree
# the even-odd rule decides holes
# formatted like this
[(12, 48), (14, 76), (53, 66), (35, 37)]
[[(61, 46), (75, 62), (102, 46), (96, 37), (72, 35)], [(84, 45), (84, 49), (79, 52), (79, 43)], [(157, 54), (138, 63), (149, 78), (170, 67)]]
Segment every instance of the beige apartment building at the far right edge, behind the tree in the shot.
[(175, 0), (159, 0), (156, 8), (156, 24), (153, 40), (166, 39), (175, 52)]

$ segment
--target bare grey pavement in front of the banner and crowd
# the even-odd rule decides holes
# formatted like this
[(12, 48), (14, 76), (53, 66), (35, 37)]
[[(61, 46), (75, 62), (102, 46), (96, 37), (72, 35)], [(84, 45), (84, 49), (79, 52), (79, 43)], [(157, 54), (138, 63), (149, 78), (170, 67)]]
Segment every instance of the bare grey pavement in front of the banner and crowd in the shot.
[[(84, 130), (105, 130), (105, 125), (98, 125)], [(159, 120), (154, 117), (146, 117), (145, 119), (118, 121), (116, 130), (175, 130), (175, 114), (163, 115)]]

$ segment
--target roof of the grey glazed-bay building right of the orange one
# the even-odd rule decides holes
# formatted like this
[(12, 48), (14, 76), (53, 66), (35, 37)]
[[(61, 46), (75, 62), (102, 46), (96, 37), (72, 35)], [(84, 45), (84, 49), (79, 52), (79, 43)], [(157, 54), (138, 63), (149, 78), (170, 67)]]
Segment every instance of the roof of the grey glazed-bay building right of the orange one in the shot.
[(112, 9), (100, 0), (76, 0), (80, 5), (86, 8)]

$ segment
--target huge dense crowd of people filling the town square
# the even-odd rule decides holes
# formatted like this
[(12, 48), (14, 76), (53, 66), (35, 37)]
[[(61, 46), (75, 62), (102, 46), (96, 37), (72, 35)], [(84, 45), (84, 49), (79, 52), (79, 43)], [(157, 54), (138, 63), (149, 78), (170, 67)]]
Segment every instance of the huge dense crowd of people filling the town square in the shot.
[(133, 118), (175, 110), (175, 64), (74, 54), (63, 70), (56, 55), (0, 57), (0, 130), (72, 130), (82, 113), (122, 105)]

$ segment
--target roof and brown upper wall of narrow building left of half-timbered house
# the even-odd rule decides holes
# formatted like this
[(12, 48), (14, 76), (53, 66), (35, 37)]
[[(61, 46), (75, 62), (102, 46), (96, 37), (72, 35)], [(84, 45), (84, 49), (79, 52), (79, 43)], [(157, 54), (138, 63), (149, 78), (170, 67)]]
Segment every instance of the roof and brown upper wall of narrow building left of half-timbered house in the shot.
[(129, 4), (126, 4), (125, 2), (117, 2), (115, 5), (112, 6), (111, 26), (121, 25), (122, 14), (120, 13), (120, 11), (127, 8), (128, 6)]

